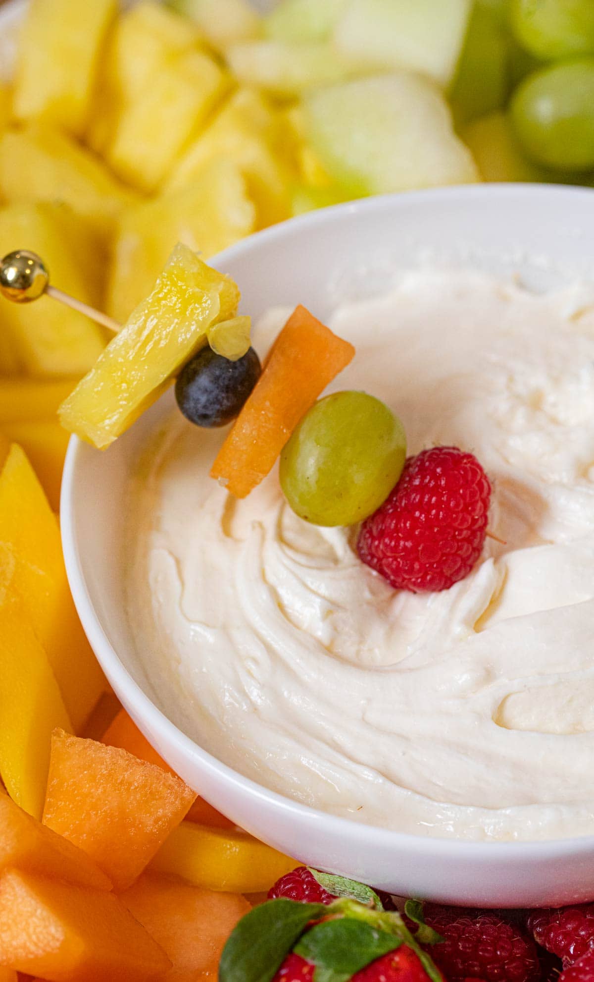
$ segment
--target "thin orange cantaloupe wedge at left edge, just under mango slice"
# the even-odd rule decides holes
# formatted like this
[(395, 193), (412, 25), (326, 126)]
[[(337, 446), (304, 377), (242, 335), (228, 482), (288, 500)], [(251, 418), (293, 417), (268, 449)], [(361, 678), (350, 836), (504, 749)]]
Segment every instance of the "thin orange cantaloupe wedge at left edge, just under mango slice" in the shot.
[(41, 825), (7, 794), (0, 794), (0, 873), (11, 867), (96, 890), (112, 887), (85, 852)]

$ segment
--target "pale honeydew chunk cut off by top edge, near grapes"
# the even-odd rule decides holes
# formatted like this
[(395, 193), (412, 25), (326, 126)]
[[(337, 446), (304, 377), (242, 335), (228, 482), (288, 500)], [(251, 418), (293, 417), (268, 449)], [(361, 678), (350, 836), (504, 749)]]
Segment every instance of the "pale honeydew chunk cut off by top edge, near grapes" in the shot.
[(448, 85), (472, 0), (350, 0), (334, 32), (337, 50), (367, 69), (411, 69)]

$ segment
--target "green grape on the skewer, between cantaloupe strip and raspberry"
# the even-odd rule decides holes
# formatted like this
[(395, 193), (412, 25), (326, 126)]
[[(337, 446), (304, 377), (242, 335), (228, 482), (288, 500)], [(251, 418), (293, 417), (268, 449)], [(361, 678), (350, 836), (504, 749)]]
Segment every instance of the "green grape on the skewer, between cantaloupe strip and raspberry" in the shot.
[(406, 456), (400, 419), (364, 392), (326, 396), (303, 416), (281, 454), (281, 487), (299, 518), (352, 525), (398, 481)]

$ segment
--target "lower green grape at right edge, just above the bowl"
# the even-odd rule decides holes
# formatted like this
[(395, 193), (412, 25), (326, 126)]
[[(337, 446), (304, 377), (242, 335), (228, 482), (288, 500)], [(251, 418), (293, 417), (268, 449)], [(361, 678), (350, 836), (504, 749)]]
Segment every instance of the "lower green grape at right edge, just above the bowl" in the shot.
[(529, 75), (512, 99), (513, 130), (526, 155), (561, 171), (594, 167), (594, 58)]

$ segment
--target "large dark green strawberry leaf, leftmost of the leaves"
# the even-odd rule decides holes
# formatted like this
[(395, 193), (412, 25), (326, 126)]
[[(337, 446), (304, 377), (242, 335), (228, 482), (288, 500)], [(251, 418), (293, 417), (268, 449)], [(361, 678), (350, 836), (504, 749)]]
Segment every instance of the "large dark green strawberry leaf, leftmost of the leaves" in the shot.
[(284, 898), (253, 907), (223, 949), (219, 982), (271, 982), (308, 923), (328, 909)]

